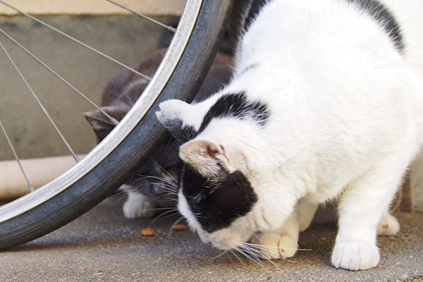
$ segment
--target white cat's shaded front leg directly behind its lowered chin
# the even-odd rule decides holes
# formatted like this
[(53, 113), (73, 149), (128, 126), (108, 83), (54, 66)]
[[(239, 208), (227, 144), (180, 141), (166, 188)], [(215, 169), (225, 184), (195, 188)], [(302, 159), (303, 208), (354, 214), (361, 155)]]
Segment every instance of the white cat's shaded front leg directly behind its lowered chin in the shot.
[(286, 259), (293, 257), (297, 252), (299, 233), (298, 207), (295, 207), (281, 228), (256, 234), (252, 243), (260, 245), (259, 251), (267, 259)]

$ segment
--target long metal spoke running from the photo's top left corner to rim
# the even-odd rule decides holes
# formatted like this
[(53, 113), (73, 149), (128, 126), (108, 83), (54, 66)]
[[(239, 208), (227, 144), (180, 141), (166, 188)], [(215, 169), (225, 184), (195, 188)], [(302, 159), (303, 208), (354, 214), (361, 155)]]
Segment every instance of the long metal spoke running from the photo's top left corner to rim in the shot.
[(63, 31), (58, 30), (56, 27), (53, 27), (53, 26), (49, 25), (48, 23), (45, 23), (42, 20), (39, 20), (38, 18), (35, 18), (35, 17), (31, 16), (28, 13), (25, 13), (24, 11), (20, 11), (18, 8), (14, 7), (14, 6), (11, 6), (10, 4), (7, 4), (6, 2), (4, 2), (2, 0), (0, 0), (0, 3), (1, 4), (4, 4), (5, 6), (8, 6), (9, 8), (11, 8), (11, 9), (13, 9), (15, 11), (17, 11), (18, 13), (22, 14), (23, 16), (26, 16), (26, 17), (30, 18), (31, 20), (35, 20), (37, 23), (39, 23), (41, 25), (44, 25), (45, 27), (48, 27), (51, 30), (54, 30), (55, 32), (59, 33), (60, 35), (63, 35), (64, 37), (66, 37), (68, 39), (71, 39), (73, 42), (76, 42), (76, 43), (80, 44), (81, 46), (83, 46), (83, 47), (85, 47), (87, 49), (90, 49), (91, 51), (94, 51), (95, 53), (99, 54), (100, 56), (103, 56), (104, 58), (109, 59), (110, 61), (118, 64), (119, 66), (121, 66), (123, 68), (126, 68), (128, 71), (131, 71), (131, 72), (133, 72), (133, 73), (135, 73), (137, 75), (140, 75), (140, 77), (144, 78), (145, 80), (147, 80), (147, 81), (151, 81), (152, 80), (152, 78), (150, 78), (148, 75), (145, 75), (143, 73), (140, 73), (139, 71), (136, 71), (135, 69), (131, 68), (130, 66), (126, 66), (124, 63), (121, 63), (120, 61), (112, 58), (111, 56), (104, 54), (102, 51), (99, 51), (97, 49), (94, 49), (90, 45), (85, 44), (84, 42), (76, 39), (75, 37), (72, 37), (71, 35), (68, 35), (67, 33), (65, 33)]

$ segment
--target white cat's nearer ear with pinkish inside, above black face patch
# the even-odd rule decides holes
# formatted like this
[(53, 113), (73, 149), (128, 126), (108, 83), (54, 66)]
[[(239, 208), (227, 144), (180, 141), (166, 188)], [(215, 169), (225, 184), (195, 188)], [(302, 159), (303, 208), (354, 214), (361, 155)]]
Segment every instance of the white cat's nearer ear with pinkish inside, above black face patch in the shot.
[(203, 176), (215, 176), (221, 168), (228, 169), (225, 148), (211, 140), (192, 140), (180, 147), (179, 157)]

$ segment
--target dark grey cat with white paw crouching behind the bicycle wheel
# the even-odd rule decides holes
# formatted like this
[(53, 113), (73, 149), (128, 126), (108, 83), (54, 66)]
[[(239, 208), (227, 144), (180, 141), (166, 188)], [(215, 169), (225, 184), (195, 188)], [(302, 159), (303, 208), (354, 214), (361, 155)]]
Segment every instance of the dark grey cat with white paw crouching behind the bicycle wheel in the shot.
[[(142, 61), (136, 70), (153, 76), (165, 53), (166, 49), (155, 51)], [(210, 94), (219, 90), (223, 83), (228, 82), (231, 77), (231, 63), (232, 58), (225, 51), (218, 53), (194, 102), (206, 99)], [(102, 109), (121, 121), (133, 104), (137, 102), (147, 84), (146, 80), (129, 71), (118, 73), (111, 78), (103, 92)], [(97, 142), (103, 140), (114, 128), (114, 124), (99, 110), (85, 113), (85, 118), (92, 125)], [(168, 205), (169, 202), (174, 204), (173, 201), (166, 200), (178, 178), (176, 173), (178, 148), (174, 142), (173, 138), (169, 138), (161, 144), (152, 157), (121, 186), (121, 189), (128, 194), (128, 198), (123, 204), (125, 217), (132, 219), (153, 216), (157, 206)], [(174, 184), (172, 185), (172, 183)]]

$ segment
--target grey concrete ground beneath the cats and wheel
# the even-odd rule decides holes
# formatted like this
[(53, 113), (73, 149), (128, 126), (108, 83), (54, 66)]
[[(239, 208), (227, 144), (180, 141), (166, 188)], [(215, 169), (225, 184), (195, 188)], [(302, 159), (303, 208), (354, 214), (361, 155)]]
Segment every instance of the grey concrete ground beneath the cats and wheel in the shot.
[(330, 265), (333, 224), (300, 235), (289, 261), (238, 259), (201, 243), (190, 231), (173, 231), (178, 219), (154, 223), (125, 219), (121, 203), (106, 200), (80, 219), (31, 243), (0, 253), (0, 281), (423, 281), (423, 214), (398, 213), (401, 231), (379, 238), (381, 262), (367, 271)]

